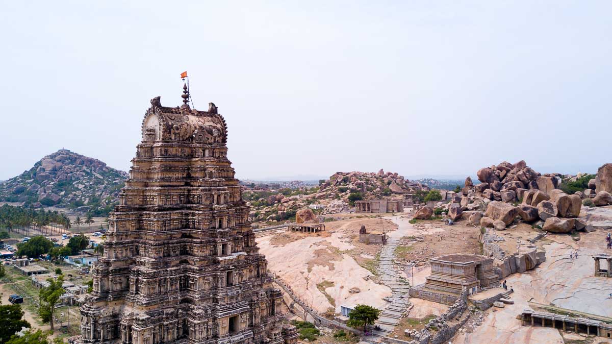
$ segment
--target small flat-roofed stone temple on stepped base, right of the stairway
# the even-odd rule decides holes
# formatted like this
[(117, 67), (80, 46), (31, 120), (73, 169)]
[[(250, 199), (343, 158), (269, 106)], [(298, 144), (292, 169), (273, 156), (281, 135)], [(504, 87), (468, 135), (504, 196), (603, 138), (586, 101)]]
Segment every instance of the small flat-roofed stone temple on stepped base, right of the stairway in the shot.
[(489, 257), (458, 253), (432, 258), (430, 263), (427, 282), (411, 288), (410, 296), (453, 304), (463, 291), (475, 294), (482, 288), (499, 285), (493, 259)]

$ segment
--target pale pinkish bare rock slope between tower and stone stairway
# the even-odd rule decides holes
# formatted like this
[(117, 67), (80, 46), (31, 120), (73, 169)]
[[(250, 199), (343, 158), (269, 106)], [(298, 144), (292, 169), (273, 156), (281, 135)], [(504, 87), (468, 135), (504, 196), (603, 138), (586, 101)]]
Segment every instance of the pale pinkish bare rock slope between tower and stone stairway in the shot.
[[(389, 220), (349, 219), (327, 222), (324, 233), (278, 230), (259, 236), (257, 242), (269, 270), (319, 313), (330, 307), (340, 313), (343, 304), (384, 308), (390, 288), (370, 280), (372, 273), (357, 262), (371, 261), (381, 247), (357, 241), (362, 224), (368, 231), (396, 228)], [(349, 293), (352, 288), (360, 292)]]

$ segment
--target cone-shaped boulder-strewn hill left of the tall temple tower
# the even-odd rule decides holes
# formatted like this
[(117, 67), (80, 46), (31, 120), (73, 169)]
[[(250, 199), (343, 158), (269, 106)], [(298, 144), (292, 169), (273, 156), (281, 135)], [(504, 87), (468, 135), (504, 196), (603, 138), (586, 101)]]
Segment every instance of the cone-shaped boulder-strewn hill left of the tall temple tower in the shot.
[(117, 204), (127, 176), (100, 160), (61, 149), (1, 184), (0, 201), (24, 202), (34, 208), (59, 205), (105, 215)]

